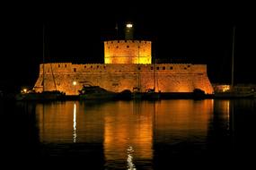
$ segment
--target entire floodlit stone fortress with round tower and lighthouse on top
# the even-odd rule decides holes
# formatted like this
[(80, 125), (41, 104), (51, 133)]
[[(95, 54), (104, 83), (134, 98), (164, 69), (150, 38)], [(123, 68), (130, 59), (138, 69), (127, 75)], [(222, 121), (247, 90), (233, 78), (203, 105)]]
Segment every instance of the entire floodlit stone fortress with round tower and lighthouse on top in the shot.
[(113, 92), (193, 92), (213, 94), (206, 64), (152, 64), (151, 41), (134, 40), (128, 25), (125, 40), (104, 41), (104, 64), (40, 64), (36, 92), (59, 90), (78, 95), (84, 85)]

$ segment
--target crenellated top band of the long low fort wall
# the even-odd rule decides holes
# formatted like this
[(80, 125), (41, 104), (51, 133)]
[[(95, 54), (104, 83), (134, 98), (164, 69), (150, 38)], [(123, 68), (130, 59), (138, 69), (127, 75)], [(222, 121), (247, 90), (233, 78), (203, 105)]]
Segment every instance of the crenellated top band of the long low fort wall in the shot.
[(44, 72), (162, 72), (162, 73), (207, 73), (206, 64), (40, 64)]

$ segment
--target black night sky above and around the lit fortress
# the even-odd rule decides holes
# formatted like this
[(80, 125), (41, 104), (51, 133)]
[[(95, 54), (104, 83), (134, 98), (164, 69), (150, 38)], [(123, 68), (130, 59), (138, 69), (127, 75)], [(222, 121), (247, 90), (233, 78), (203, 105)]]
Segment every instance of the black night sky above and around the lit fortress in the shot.
[(116, 23), (121, 38), (126, 21), (134, 23), (135, 38), (152, 40), (160, 62), (207, 64), (212, 82), (230, 81), (235, 25), (235, 82), (256, 83), (253, 8), (170, 2), (46, 6), (9, 6), (2, 14), (1, 87), (33, 86), (43, 56), (43, 25), (47, 61), (102, 63), (103, 41), (117, 38)]

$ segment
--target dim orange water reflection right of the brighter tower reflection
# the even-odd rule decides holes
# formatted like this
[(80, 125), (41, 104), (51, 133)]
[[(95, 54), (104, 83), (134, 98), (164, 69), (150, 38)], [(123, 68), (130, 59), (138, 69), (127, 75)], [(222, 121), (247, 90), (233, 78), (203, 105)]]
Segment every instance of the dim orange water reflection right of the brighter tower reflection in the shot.
[(193, 136), (206, 138), (212, 114), (213, 100), (163, 100), (156, 105), (154, 139), (177, 143)]

